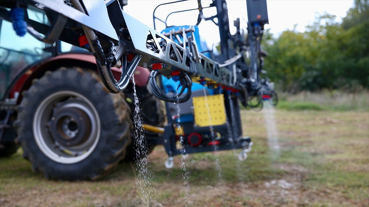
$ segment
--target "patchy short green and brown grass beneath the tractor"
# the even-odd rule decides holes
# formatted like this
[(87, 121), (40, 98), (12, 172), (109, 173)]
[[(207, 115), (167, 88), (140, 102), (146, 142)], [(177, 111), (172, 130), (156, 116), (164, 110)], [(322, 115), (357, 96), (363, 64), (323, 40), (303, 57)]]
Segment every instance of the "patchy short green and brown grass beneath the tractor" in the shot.
[[(154, 174), (152, 205), (369, 206), (368, 111), (277, 109), (278, 153), (269, 147), (265, 113), (241, 111), (244, 134), (254, 142), (246, 161), (238, 161), (239, 150), (187, 158), (188, 196), (181, 157), (176, 156), (174, 167), (166, 169), (165, 151), (156, 147), (148, 157)], [(21, 149), (0, 159), (2, 207), (146, 206), (141, 194), (134, 169), (127, 163), (97, 181), (64, 182), (32, 172)]]

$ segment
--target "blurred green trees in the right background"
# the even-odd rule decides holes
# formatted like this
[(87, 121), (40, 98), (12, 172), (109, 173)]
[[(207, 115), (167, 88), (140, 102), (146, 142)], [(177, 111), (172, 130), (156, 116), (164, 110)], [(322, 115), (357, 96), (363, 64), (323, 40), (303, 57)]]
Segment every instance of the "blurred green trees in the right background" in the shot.
[(341, 23), (334, 19), (323, 14), (305, 32), (287, 30), (278, 38), (265, 31), (264, 68), (277, 90), (369, 88), (369, 0), (354, 1)]

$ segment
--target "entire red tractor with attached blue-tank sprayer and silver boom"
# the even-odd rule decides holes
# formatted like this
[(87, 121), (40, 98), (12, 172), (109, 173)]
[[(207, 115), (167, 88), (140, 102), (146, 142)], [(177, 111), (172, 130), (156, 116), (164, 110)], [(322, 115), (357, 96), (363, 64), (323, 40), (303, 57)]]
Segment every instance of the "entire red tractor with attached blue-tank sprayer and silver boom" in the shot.
[[(165, 20), (155, 9), (152, 29), (123, 11), (125, 1), (0, 0), (1, 156), (15, 152), (15, 140), (34, 170), (66, 180), (99, 178), (158, 144), (168, 168), (175, 155), (214, 149), (242, 149), (246, 159), (252, 142), (242, 136), (239, 103), (262, 108), (263, 99), (277, 100), (273, 83), (261, 78), (266, 0), (246, 1), (247, 29), (238, 18), (233, 35), (225, 0), (184, 3), (194, 8), (169, 11)], [(206, 17), (207, 9), (216, 13)], [(198, 11), (196, 25), (167, 25), (187, 11)], [(219, 51), (200, 36), (201, 21), (218, 26)], [(155, 22), (166, 28), (156, 31)], [(22, 38), (38, 46), (16, 49)], [(145, 154), (131, 133), (132, 77), (143, 120), (133, 127), (145, 129)]]

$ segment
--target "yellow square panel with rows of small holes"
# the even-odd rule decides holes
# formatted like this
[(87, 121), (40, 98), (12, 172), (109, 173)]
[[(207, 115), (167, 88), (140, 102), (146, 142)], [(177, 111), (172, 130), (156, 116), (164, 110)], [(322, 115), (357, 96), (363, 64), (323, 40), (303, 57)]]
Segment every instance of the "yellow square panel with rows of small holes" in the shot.
[(226, 123), (223, 94), (193, 97), (192, 103), (196, 126), (217, 126)]

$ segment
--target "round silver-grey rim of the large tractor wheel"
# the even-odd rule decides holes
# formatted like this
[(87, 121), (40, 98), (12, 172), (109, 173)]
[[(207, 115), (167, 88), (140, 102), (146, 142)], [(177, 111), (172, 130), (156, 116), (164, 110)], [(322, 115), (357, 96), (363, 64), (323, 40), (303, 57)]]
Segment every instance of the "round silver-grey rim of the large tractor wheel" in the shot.
[(59, 91), (46, 97), (33, 120), (39, 149), (50, 159), (73, 164), (86, 159), (100, 138), (100, 118), (85, 96)]

